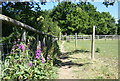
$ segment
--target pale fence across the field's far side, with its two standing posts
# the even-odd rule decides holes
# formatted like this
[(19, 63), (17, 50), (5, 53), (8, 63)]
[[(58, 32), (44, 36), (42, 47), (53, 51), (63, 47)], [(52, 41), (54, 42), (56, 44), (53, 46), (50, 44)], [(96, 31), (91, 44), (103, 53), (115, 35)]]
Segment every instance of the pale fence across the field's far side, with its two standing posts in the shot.
[[(61, 34), (60, 34), (61, 35)], [(61, 35), (59, 36), (59, 40), (63, 41), (74, 41), (75, 50), (79, 47), (77, 41), (91, 41), (91, 59), (94, 59), (95, 53), (95, 40), (99, 41), (107, 41), (107, 40), (118, 40), (120, 35), (95, 35), (95, 26), (93, 26), (93, 34), (92, 35), (78, 35), (75, 33), (74, 35)]]

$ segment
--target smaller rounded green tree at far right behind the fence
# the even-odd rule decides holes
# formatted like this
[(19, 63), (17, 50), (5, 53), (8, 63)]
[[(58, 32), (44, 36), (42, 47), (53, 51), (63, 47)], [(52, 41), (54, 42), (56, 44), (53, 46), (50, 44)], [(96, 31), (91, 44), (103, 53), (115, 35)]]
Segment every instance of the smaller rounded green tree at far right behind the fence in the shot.
[(115, 19), (108, 12), (102, 12), (97, 24), (97, 34), (117, 34)]

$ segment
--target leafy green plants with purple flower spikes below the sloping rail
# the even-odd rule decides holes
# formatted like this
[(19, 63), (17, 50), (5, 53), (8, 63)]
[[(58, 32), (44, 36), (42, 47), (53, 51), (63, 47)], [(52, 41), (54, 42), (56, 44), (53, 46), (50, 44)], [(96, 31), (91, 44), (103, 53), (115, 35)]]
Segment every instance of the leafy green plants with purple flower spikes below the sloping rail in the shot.
[[(54, 79), (55, 67), (45, 62), (41, 46), (36, 51), (29, 49), (30, 42), (26, 45), (20, 42), (13, 45), (11, 54), (6, 56), (2, 79)], [(50, 60), (48, 55), (47, 60)]]

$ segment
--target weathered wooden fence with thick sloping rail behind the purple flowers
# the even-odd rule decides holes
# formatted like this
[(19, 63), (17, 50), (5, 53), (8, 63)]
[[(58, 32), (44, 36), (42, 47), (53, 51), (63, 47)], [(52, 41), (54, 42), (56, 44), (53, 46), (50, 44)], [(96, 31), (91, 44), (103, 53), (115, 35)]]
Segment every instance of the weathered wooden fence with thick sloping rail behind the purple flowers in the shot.
[[(2, 48), (0, 50), (0, 53), (2, 55), (1, 58), (3, 61), (5, 60), (5, 57), (7, 55), (11, 54), (13, 45), (18, 45), (20, 42), (24, 42), (33, 51), (35, 51), (38, 47), (40, 47), (41, 50), (45, 52), (44, 57), (46, 61), (47, 61), (47, 56), (50, 53), (53, 54), (51, 55), (52, 58), (54, 58), (56, 54), (57, 55), (60, 54), (59, 47), (57, 45), (56, 36), (39, 31), (29, 25), (26, 25), (20, 21), (14, 20), (2, 14), (0, 14), (0, 20), (4, 22), (9, 22), (10, 24), (14, 24), (18, 28), (22, 28), (21, 30), (22, 32), (20, 32), (19, 36), (17, 36), (17, 34), (14, 34), (10, 37), (10, 40), (8, 40), (5, 43), (4, 42), (1, 43)], [(33, 32), (34, 34), (30, 35), (28, 34), (29, 32)], [(13, 38), (15, 39), (13, 40)], [(32, 45), (29, 45), (30, 43)]]

